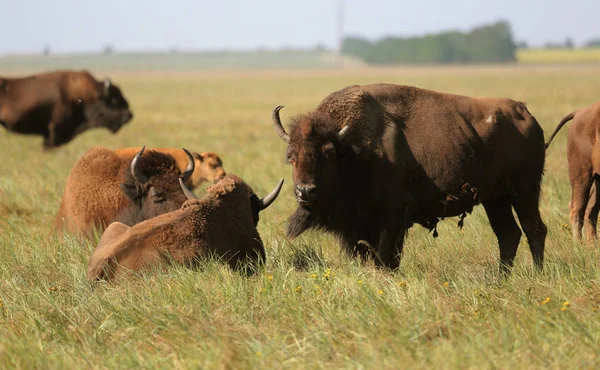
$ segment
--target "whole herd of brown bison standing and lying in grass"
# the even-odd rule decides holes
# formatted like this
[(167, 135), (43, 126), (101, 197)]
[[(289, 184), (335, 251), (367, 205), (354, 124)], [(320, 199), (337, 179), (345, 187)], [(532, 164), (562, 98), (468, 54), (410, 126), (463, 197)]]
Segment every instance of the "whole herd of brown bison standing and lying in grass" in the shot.
[[(596, 238), (600, 103), (567, 115), (547, 144), (525, 103), (505, 98), (350, 86), (293, 117), (287, 131), (282, 108), (273, 110), (272, 121), (287, 145), (297, 200), (289, 238), (325, 230), (339, 238), (343, 251), (397, 269), (414, 224), (437, 236), (440, 220), (458, 216), (461, 226), (482, 204), (498, 239), (500, 271), (510, 272), (521, 228), (541, 269), (545, 150), (571, 119), (573, 236), (581, 238), (587, 219), (588, 236)], [(87, 71), (0, 78), (0, 123), (11, 132), (43, 136), (46, 150), (90, 128), (115, 133), (132, 118), (119, 87)], [(198, 198), (190, 189), (203, 182), (213, 185)], [(252, 273), (265, 260), (259, 213), (282, 185), (283, 179), (260, 198), (242, 179), (227, 175), (211, 152), (95, 147), (69, 173), (55, 228), (86, 238), (102, 233), (88, 264), (91, 281), (172, 263), (193, 267), (211, 256)]]

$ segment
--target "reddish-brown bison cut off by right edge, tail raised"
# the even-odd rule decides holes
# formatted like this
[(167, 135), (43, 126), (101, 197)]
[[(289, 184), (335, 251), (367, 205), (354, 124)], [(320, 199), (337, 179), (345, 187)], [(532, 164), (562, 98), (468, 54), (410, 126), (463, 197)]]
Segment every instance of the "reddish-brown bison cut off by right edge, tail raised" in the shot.
[(596, 240), (596, 224), (600, 201), (600, 102), (566, 115), (548, 139), (546, 148), (568, 121), (573, 120), (567, 139), (567, 161), (571, 180), (571, 227), (573, 237), (581, 239), (583, 220), (587, 219), (588, 240)]

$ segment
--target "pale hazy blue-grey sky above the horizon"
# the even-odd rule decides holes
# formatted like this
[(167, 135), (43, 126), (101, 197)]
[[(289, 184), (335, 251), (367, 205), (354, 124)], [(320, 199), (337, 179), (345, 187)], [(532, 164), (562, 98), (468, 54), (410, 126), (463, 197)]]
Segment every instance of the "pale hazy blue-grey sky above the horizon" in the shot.
[[(333, 47), (338, 0), (0, 0), (0, 53)], [(345, 0), (345, 35), (370, 39), (508, 20), (517, 41), (600, 37), (600, 0)]]

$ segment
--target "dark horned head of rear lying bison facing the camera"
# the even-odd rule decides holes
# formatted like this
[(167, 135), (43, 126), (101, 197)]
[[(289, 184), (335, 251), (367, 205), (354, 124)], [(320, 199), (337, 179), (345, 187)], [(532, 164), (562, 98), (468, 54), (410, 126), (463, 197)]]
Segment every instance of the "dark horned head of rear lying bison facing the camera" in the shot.
[(194, 159), (190, 152), (183, 149), (189, 164), (182, 174), (171, 155), (150, 150), (142, 156), (145, 148), (142, 147), (125, 171), (126, 181), (121, 184), (121, 189), (131, 201), (131, 207), (115, 221), (133, 225), (179, 209), (186, 200), (178, 178), (187, 181), (194, 172)]

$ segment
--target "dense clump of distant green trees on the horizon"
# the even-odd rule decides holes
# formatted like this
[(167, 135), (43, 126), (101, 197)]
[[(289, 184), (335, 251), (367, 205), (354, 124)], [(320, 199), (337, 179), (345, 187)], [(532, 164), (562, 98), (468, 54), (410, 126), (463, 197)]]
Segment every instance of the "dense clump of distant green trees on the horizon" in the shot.
[(516, 61), (516, 46), (508, 22), (496, 22), (469, 32), (449, 31), (416, 37), (387, 37), (371, 42), (347, 37), (342, 53), (373, 64), (459, 64)]

